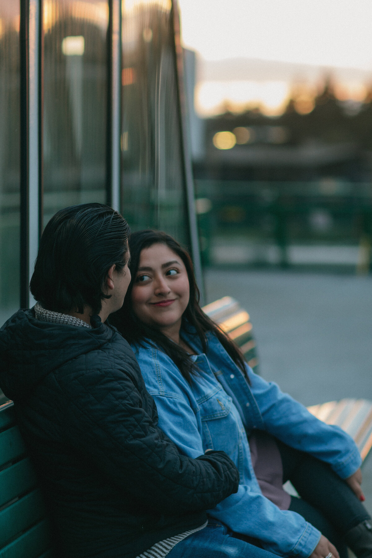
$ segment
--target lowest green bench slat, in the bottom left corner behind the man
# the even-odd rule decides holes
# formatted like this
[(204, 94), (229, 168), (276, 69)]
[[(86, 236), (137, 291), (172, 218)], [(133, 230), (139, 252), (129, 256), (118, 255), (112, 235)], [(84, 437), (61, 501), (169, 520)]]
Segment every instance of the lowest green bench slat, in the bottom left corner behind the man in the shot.
[(15, 541), (4, 546), (0, 550), (0, 558), (38, 558), (41, 553), (43, 553), (42, 556), (47, 556), (45, 551), (49, 546), (49, 528), (46, 519), (44, 519)]

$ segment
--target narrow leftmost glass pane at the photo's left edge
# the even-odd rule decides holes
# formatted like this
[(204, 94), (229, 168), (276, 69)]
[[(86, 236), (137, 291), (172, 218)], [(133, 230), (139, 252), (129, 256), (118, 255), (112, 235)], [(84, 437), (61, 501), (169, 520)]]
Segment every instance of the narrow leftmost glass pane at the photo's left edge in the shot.
[(20, 4), (0, 0), (0, 325), (20, 307)]

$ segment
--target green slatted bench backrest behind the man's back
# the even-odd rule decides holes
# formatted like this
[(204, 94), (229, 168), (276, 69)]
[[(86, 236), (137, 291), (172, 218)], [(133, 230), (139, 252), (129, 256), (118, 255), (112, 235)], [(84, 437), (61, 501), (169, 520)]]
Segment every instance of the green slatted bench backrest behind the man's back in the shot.
[(4, 399), (0, 405), (0, 558), (51, 558), (42, 496), (13, 403)]

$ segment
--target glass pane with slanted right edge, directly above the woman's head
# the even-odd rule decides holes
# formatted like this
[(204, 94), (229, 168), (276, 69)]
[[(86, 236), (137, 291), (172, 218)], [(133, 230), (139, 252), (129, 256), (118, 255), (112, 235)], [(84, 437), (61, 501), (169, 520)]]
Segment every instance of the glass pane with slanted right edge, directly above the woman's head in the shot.
[(171, 0), (123, 3), (122, 213), (189, 243)]

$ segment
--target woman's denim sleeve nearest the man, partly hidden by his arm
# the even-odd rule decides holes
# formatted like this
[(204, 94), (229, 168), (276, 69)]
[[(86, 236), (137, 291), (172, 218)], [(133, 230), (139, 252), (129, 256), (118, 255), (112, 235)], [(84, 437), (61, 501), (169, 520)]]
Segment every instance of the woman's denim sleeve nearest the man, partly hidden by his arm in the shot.
[[(192, 458), (203, 454), (208, 448), (203, 447), (199, 410), (189, 384), (172, 360), (156, 349), (140, 348), (136, 357), (156, 402), (158, 426), (182, 453)], [(282, 511), (246, 484), (208, 513), (231, 530), (258, 538), (265, 549), (281, 556), (310, 556), (321, 535), (303, 517)]]

